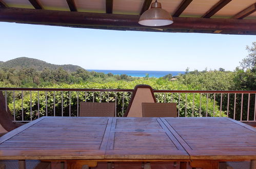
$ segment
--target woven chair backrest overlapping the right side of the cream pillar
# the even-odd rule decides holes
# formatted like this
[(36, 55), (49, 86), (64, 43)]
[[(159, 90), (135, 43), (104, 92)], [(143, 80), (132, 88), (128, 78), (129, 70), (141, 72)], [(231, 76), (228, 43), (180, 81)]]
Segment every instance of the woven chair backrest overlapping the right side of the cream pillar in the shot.
[(143, 117), (177, 117), (176, 103), (142, 103)]

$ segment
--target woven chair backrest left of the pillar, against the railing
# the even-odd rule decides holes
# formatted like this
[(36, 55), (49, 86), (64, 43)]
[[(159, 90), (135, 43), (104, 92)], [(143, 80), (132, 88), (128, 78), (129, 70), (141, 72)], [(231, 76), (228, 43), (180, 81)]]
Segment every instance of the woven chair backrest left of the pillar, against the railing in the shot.
[(80, 117), (114, 117), (114, 102), (80, 102)]

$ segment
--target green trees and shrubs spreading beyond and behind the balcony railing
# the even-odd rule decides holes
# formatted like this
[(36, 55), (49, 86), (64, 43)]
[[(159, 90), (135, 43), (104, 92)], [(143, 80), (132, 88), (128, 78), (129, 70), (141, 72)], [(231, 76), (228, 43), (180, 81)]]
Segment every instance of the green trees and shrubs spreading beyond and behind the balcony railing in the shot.
[[(112, 73), (103, 74), (89, 72), (78, 68), (75, 71), (65, 70), (63, 67), (57, 69), (44, 68), (35, 69), (23, 67), (16, 69), (2, 63), (0, 68), (1, 87), (32, 87), (32, 88), (75, 88), (75, 89), (133, 89), (139, 84), (150, 85), (156, 90), (256, 90), (256, 68), (255, 53), (256, 43), (252, 47), (247, 47), (248, 56), (242, 60), (240, 67), (234, 72), (219, 70), (202, 72), (198, 70), (189, 71), (183, 75), (173, 77), (168, 74), (162, 78), (135, 78)], [(15, 60), (15, 59), (14, 59)], [(8, 61), (7, 61), (8, 62)], [(46, 62), (45, 62), (46, 63)], [(47, 64), (47, 63), (46, 63)], [(0, 62), (1, 67), (1, 62)], [(176, 80), (173, 80), (175, 78)], [(31, 94), (31, 98), (30, 98)], [(124, 95), (124, 100), (123, 100)], [(229, 109), (229, 117), (233, 117), (233, 112), (241, 112), (242, 97), (243, 102), (248, 102), (248, 94), (176, 94), (176, 93), (155, 93), (159, 102), (176, 102), (180, 116), (226, 116)], [(22, 102), (21, 98), (24, 98)], [(47, 97), (47, 105), (46, 105)], [(117, 115), (122, 116), (127, 108), (131, 93), (129, 92), (15, 92), (15, 113), (16, 119), (30, 120), (30, 110), (32, 119), (38, 115), (63, 115), (77, 114), (77, 102), (80, 101), (102, 101), (116, 102)], [(39, 99), (38, 99), (39, 98)], [(31, 104), (30, 104), (31, 99)], [(78, 99), (78, 101), (77, 101)], [(94, 99), (94, 100), (93, 100)], [(227, 101), (229, 99), (229, 102)], [(39, 100), (39, 101), (38, 101)], [(62, 100), (64, 102), (62, 103)], [(255, 95), (250, 95), (249, 119), (253, 119)], [(234, 105), (235, 102), (235, 105)], [(38, 114), (39, 103), (39, 114)], [(207, 104), (208, 103), (208, 104)], [(222, 108), (220, 107), (222, 103)], [(55, 104), (55, 110), (53, 109)], [(69, 111), (70, 104), (70, 111)], [(8, 93), (8, 105), (14, 112), (12, 93)], [(22, 117), (22, 105), (25, 112)], [(242, 119), (247, 119), (247, 104), (243, 104)], [(63, 109), (62, 109), (63, 108)], [(222, 109), (222, 110), (220, 110)], [(235, 109), (235, 110), (234, 110)], [(46, 113), (47, 110), (47, 113)], [(235, 115), (240, 119), (241, 113)]]

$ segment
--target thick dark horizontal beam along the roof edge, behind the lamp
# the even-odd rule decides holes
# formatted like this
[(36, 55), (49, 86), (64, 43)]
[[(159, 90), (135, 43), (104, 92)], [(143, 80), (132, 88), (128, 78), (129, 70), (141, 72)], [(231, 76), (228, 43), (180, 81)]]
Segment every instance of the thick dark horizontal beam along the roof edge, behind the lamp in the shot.
[(35, 10), (25, 8), (0, 8), (0, 22), (16, 22), (24, 24), (68, 26), (79, 28), (120, 27), (129, 29), (164, 29), (164, 30), (194, 30), (214, 32), (222, 30), (225, 33), (242, 32), (254, 34), (256, 19), (220, 19), (173, 17), (173, 24), (162, 27), (147, 27), (138, 24), (140, 15), (104, 14), (88, 12), (69, 12), (54, 10)]

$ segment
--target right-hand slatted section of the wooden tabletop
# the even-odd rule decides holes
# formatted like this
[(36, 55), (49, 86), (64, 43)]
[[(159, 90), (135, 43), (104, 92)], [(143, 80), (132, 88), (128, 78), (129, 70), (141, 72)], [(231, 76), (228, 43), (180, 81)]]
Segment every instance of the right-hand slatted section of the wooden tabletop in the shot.
[(256, 129), (229, 118), (162, 118), (190, 155), (201, 160), (256, 159)]

